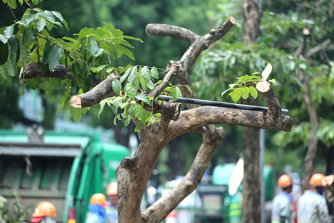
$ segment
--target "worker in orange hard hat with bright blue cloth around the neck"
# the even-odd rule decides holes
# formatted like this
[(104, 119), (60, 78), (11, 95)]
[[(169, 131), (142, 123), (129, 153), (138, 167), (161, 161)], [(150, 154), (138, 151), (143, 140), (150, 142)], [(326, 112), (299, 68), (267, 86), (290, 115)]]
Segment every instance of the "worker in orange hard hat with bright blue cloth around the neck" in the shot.
[(106, 223), (106, 205), (106, 195), (103, 193), (94, 193), (89, 199), (88, 212), (86, 214), (85, 223)]

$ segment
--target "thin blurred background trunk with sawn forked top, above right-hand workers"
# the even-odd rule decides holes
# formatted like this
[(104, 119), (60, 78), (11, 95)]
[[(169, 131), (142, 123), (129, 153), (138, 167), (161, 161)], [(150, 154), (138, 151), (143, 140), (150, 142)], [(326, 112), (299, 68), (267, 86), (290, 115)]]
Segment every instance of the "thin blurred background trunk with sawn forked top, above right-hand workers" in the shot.
[[(300, 46), (297, 48), (297, 50), (294, 52), (295, 58), (306, 58), (310, 59), (312, 55), (315, 53), (318, 53), (319, 51), (325, 49), (328, 47), (328, 45), (331, 43), (330, 39), (326, 39), (323, 43), (320, 45), (310, 49), (303, 55), (303, 51), (306, 48), (306, 40), (307, 36), (310, 34), (309, 30), (304, 28), (303, 30), (303, 40), (300, 44)], [(318, 138), (316, 136), (318, 127), (319, 127), (319, 119), (317, 116), (316, 109), (314, 107), (314, 104), (311, 99), (311, 94), (308, 91), (308, 84), (309, 84), (309, 76), (307, 73), (305, 74), (302, 70), (298, 69), (296, 70), (296, 76), (298, 80), (303, 85), (303, 92), (302, 92), (302, 98), (305, 102), (307, 113), (308, 113), (308, 119), (311, 126), (310, 136), (309, 136), (309, 142), (307, 145), (307, 151), (306, 156), (304, 158), (304, 177), (301, 181), (302, 190), (306, 190), (308, 188), (308, 181), (313, 173), (313, 167), (314, 167), (314, 158), (318, 149)]]

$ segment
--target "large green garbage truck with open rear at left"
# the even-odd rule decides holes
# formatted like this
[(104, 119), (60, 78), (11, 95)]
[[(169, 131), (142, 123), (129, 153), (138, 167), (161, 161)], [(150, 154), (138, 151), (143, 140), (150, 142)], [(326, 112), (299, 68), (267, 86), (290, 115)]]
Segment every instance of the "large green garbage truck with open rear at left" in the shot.
[(0, 195), (13, 203), (18, 194), (24, 206), (49, 201), (57, 223), (69, 216), (83, 223), (90, 196), (105, 193), (128, 156), (128, 148), (102, 143), (96, 133), (0, 130)]

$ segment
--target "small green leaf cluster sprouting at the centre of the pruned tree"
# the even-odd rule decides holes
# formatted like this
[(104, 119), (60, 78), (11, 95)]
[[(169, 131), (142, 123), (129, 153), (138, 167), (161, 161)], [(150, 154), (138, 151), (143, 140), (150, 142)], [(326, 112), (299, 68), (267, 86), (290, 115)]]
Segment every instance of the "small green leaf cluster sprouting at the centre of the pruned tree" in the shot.
[[(153, 83), (153, 79), (158, 79), (158, 69), (153, 66), (149, 69), (148, 66), (132, 66), (125, 70), (121, 78), (114, 79), (111, 83), (112, 90), (118, 95), (103, 99), (100, 102), (100, 110), (98, 115), (102, 113), (105, 105), (111, 107), (114, 118), (114, 125), (116, 120), (124, 119), (124, 125), (128, 126), (134, 117), (137, 122), (135, 131), (138, 132), (143, 125), (150, 126), (153, 122), (160, 122), (160, 113), (154, 113), (144, 109), (145, 106), (151, 106), (155, 99), (153, 96), (147, 94), (158, 86), (161, 81)], [(124, 88), (122, 88), (124, 85)], [(181, 91), (178, 86), (169, 86), (162, 93), (163, 95), (171, 95), (174, 101), (181, 96)], [(146, 105), (145, 105), (146, 104)]]

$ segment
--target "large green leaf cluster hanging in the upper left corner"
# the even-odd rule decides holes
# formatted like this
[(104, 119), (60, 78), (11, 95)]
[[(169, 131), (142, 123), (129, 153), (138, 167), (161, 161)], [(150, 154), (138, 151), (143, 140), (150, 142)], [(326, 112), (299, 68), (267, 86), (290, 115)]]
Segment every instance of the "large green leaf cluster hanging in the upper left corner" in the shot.
[[(16, 8), (15, 0), (3, 0), (10, 7)], [(15, 4), (14, 4), (15, 2)], [(23, 4), (23, 1), (19, 1)], [(34, 0), (33, 4), (38, 1)], [(56, 28), (66, 28), (67, 22), (57, 11), (39, 8), (26, 9), (22, 19), (0, 29), (0, 73), (7, 79), (9, 76), (23, 75), (25, 64), (40, 64), (42, 74), (53, 71), (58, 64), (71, 70), (73, 80), (61, 78), (24, 79), (28, 88), (37, 87), (50, 95), (54, 89), (63, 88), (64, 95), (60, 100), (58, 111), (65, 112), (69, 106), (70, 96), (85, 93), (91, 89), (94, 79), (103, 80), (113, 70), (117, 74), (125, 68), (115, 68), (113, 61), (126, 55), (135, 60), (132, 45), (128, 40), (141, 41), (139, 38), (124, 33), (104, 23), (96, 29), (83, 28), (75, 37), (54, 38), (49, 32)], [(20, 69), (21, 67), (21, 69)], [(104, 67), (100, 69), (99, 67)], [(21, 94), (24, 89), (21, 88)], [(71, 109), (72, 115), (80, 120), (88, 109)]]

